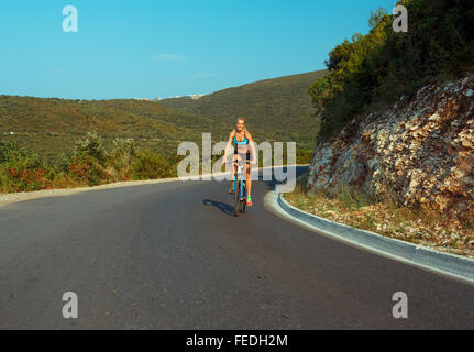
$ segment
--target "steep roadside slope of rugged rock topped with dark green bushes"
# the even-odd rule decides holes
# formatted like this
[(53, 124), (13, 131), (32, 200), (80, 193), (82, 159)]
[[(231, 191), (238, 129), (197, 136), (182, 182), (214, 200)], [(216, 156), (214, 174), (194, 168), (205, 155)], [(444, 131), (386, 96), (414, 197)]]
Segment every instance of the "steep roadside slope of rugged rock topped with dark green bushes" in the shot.
[(407, 33), (393, 30), (389, 13), (372, 13), (370, 33), (334, 47), (310, 88), (321, 129), (308, 188), (472, 232), (474, 1), (398, 3), (410, 14)]

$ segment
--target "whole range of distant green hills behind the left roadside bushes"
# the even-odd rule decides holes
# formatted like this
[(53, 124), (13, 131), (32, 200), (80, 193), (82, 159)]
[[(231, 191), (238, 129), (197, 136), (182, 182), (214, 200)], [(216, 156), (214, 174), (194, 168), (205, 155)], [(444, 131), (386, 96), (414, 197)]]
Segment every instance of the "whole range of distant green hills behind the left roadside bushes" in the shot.
[(202, 132), (211, 132), (213, 140), (225, 139), (235, 118), (244, 116), (256, 141), (297, 141), (298, 148), (311, 150), (317, 120), (307, 90), (322, 75), (262, 80), (198, 100), (0, 96), (0, 138), (48, 158), (69, 151), (88, 131), (102, 135), (106, 145), (115, 138), (135, 139), (140, 146), (169, 154), (181, 141), (199, 142)]

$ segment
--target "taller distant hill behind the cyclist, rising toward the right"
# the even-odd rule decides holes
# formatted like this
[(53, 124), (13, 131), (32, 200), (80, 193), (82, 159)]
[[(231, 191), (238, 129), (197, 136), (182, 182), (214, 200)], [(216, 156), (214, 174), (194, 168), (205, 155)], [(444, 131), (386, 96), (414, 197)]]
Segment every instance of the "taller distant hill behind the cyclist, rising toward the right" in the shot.
[(214, 121), (213, 131), (225, 138), (238, 117), (245, 117), (255, 140), (296, 141), (312, 148), (318, 120), (313, 117), (310, 87), (326, 70), (312, 72), (229, 88), (205, 96), (172, 98), (159, 102)]

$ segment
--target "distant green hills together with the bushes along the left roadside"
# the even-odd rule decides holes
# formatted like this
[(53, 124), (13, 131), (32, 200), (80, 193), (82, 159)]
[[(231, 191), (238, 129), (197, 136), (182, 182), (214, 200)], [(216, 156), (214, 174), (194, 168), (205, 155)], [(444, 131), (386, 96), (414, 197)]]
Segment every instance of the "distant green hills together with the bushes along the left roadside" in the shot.
[(309, 163), (316, 124), (306, 87), (321, 75), (232, 88), (197, 106), (0, 96), (0, 193), (176, 176), (180, 142), (200, 145), (203, 132), (227, 140), (239, 116), (257, 142), (299, 142), (297, 163)]

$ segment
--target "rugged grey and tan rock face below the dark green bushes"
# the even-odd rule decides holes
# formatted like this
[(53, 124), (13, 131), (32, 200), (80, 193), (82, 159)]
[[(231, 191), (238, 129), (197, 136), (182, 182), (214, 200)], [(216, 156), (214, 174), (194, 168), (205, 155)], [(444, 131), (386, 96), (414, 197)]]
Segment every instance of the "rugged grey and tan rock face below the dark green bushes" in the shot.
[(474, 76), (421, 88), (355, 120), (315, 152), (308, 186), (390, 193), (459, 219), (474, 213)]

